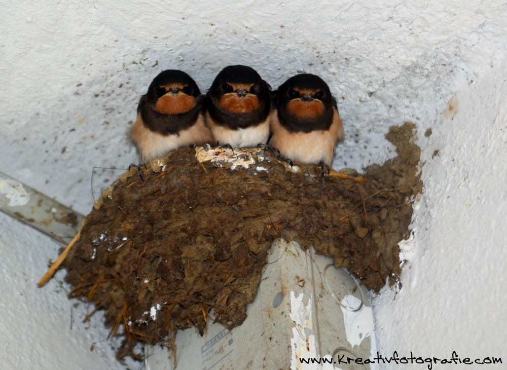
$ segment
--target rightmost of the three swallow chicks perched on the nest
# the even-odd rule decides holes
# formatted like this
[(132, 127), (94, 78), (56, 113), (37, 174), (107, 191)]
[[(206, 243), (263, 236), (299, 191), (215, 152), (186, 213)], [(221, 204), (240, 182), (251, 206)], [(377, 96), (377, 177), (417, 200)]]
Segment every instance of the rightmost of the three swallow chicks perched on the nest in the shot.
[(343, 127), (329, 86), (309, 73), (285, 81), (271, 113), (269, 146), (288, 160), (331, 166)]

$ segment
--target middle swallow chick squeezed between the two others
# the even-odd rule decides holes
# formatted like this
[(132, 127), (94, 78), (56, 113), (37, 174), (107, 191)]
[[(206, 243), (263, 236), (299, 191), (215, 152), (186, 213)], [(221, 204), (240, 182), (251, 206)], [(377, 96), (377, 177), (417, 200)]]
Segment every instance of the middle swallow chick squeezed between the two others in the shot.
[(269, 85), (255, 69), (230, 65), (216, 76), (206, 95), (206, 124), (220, 145), (256, 146), (269, 134)]

